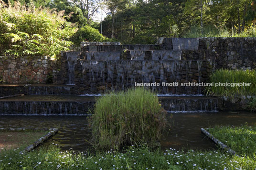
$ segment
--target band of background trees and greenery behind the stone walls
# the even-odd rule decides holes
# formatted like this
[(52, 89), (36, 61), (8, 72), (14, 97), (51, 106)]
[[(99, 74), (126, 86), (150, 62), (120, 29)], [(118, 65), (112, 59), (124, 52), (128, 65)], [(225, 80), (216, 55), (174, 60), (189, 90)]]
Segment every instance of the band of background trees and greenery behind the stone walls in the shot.
[[(4, 0), (7, 2), (7, 0)], [(96, 28), (122, 43), (154, 43), (157, 37), (255, 37), (256, 0), (20, 0), (72, 13), (78, 28)], [(11, 0), (14, 4), (14, 0)], [(94, 22), (100, 9), (107, 17)], [(100, 21), (100, 20), (99, 20)], [(83, 30), (83, 29), (82, 29)], [(92, 30), (92, 29), (89, 29)], [(96, 34), (99, 34), (96, 33)], [(85, 35), (85, 34), (83, 34)], [(79, 41), (81, 33), (78, 37)], [(85, 37), (82, 40), (90, 40)], [(106, 40), (105, 38), (96, 39)]]

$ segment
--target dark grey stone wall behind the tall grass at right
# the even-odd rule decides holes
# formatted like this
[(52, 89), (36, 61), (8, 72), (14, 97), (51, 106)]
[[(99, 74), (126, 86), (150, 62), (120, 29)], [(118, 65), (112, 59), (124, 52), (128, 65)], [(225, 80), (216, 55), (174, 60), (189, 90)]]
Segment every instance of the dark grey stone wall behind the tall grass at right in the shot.
[[(172, 50), (171, 41), (171, 38), (162, 39), (160, 48)], [(215, 53), (206, 55), (206, 58), (212, 59), (213, 69), (251, 70), (256, 68), (256, 38), (200, 38), (198, 50), (209, 50)], [(198, 59), (205, 59), (205, 55), (201, 57)]]

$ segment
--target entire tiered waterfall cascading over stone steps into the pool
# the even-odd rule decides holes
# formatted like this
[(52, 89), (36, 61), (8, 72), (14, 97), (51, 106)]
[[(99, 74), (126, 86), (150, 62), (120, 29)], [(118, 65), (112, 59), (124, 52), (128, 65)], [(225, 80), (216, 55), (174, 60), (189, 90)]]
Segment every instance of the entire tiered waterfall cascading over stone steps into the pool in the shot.
[[(0, 99), (0, 113), (87, 114), (95, 103), (93, 95), (108, 90), (127, 90), (135, 87), (135, 82), (159, 83), (147, 88), (161, 94), (161, 104), (170, 112), (216, 111), (217, 99), (204, 97), (200, 87), (181, 86), (181, 82), (202, 82), (208, 74), (205, 71), (208, 60), (181, 60), (182, 50), (198, 49), (198, 39), (172, 39), (172, 45), (173, 50), (154, 50), (154, 45), (88, 45), (83, 53), (86, 60), (80, 59), (80, 52), (66, 52), (68, 79), (65, 77), (65, 83), (76, 85), (29, 86), (28, 94), (33, 94), (29, 98), (38, 95), (38, 100), (25, 100), (27, 96)], [(124, 48), (129, 50), (130, 60), (125, 60)], [(179, 82), (179, 86), (173, 86), (175, 82)], [(69, 95), (63, 100), (55, 94)], [(74, 94), (89, 95), (78, 100), (81, 96)]]

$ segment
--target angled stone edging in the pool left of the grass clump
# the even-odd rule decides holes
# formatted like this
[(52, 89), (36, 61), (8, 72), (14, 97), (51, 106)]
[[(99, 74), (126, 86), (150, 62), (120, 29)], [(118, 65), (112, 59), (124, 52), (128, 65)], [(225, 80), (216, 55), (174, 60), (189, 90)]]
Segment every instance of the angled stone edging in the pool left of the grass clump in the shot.
[[(25, 129), (25, 128), (0, 128), (0, 130), (48, 130), (48, 129)], [(43, 141), (48, 140), (50, 137), (52, 137), (57, 131), (57, 128), (50, 128), (50, 132), (48, 132), (46, 135), (44, 135), (42, 138), (39, 140), (36, 140), (33, 144), (27, 146), (24, 150), (20, 152), (20, 154), (24, 154), (26, 152), (29, 152), (33, 150), (35, 147), (37, 147), (39, 144), (43, 143)]]

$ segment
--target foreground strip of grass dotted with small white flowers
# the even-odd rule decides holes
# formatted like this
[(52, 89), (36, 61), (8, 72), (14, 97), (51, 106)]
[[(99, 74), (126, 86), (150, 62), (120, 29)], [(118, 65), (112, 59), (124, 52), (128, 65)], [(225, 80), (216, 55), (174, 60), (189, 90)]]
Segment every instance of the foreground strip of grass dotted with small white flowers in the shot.
[(55, 146), (39, 148), (25, 155), (18, 150), (0, 154), (0, 170), (254, 170), (256, 160), (229, 156), (221, 151), (151, 151), (129, 147), (124, 153), (107, 151), (94, 156), (83, 152), (60, 152)]

